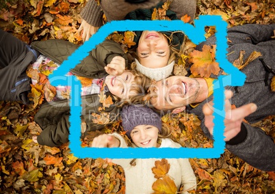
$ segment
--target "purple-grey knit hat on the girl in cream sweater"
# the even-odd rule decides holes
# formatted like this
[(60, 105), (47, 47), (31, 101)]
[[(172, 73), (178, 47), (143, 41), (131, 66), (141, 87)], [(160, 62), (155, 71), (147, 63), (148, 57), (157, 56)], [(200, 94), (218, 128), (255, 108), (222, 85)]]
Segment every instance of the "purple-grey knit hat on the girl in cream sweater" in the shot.
[(130, 138), (131, 131), (135, 126), (146, 124), (153, 125), (161, 132), (161, 117), (149, 107), (144, 105), (128, 105), (123, 107), (121, 113), (123, 130)]

